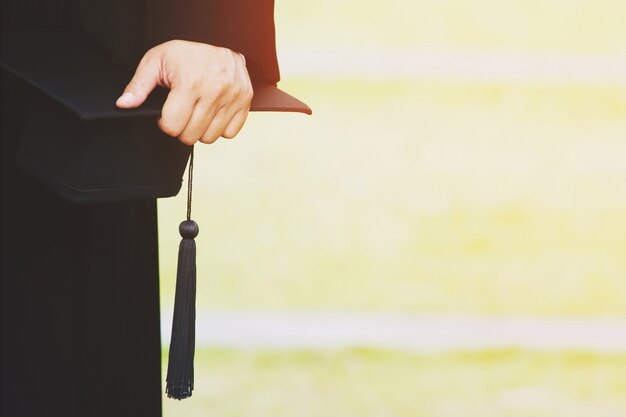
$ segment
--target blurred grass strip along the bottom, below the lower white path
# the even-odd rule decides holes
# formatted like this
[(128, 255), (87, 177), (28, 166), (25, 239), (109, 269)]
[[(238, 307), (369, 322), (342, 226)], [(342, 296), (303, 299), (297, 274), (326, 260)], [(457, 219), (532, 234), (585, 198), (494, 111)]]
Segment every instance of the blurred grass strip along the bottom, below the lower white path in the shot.
[(166, 417), (621, 417), (626, 409), (626, 354), (202, 350), (196, 373), (193, 397), (164, 399)]

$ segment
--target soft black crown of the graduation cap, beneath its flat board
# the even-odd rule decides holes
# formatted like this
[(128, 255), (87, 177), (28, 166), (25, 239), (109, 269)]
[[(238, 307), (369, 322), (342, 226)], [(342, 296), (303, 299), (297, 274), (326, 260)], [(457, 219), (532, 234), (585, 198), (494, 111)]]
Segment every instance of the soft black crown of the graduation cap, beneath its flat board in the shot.
[(35, 95), (17, 153), (26, 173), (81, 204), (178, 193), (190, 147), (161, 132), (153, 118), (84, 121)]

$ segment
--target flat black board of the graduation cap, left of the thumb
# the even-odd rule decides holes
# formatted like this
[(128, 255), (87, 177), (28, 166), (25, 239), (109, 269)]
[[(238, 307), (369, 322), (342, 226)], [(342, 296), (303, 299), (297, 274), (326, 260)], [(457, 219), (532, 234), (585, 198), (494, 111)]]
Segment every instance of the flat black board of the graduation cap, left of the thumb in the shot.
[(154, 119), (167, 97), (165, 89), (157, 88), (140, 107), (117, 108), (115, 101), (132, 72), (94, 48), (87, 38), (62, 29), (7, 34), (2, 38), (2, 66), (83, 121)]

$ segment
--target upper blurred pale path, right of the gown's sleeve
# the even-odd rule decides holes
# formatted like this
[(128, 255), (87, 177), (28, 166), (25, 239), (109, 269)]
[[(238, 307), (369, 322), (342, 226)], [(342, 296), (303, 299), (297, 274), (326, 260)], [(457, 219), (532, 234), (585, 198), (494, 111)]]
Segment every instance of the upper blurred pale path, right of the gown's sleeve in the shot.
[(445, 78), (476, 82), (626, 85), (626, 55), (393, 49), (294, 49), (280, 54), (285, 79)]

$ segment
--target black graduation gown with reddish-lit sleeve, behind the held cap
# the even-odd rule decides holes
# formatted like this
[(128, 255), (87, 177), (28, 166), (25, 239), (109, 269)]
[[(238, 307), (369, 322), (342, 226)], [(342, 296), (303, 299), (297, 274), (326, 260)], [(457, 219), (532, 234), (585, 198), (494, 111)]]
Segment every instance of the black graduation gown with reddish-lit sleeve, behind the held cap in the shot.
[[(128, 68), (168, 39), (211, 42), (275, 83), (275, 51), (241, 30), (262, 3), (2, 0), (2, 30), (71, 30)], [(29, 94), (2, 71), (2, 415), (159, 416), (156, 201), (75, 205), (18, 169)]]

